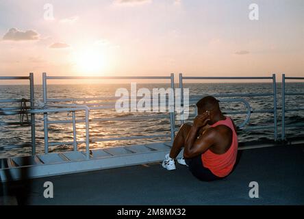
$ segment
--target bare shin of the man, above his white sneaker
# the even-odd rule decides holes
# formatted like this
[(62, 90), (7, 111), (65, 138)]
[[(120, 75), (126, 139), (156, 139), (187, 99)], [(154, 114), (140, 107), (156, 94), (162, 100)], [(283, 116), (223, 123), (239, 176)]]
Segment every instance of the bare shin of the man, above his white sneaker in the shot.
[(188, 136), (190, 129), (191, 129), (191, 125), (183, 124), (181, 126), (181, 128), (177, 132), (177, 135), (174, 138), (173, 146), (169, 154), (170, 158), (175, 159), (177, 155), (179, 155), (179, 152), (181, 152), (181, 149), (185, 145), (186, 138)]

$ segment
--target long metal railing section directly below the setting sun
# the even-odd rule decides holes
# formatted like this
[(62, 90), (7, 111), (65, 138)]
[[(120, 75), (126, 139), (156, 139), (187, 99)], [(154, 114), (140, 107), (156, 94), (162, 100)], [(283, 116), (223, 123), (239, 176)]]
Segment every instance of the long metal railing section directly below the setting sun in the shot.
[[(50, 107), (78, 107), (77, 104), (66, 104), (67, 102), (75, 102), (75, 101), (109, 101), (116, 100), (117, 97), (94, 97), (94, 98), (64, 98), (64, 99), (49, 99), (47, 97), (47, 81), (48, 80), (62, 80), (62, 79), (168, 79), (170, 80), (170, 88), (174, 90), (174, 74), (171, 74), (168, 77), (52, 77), (47, 76), (47, 73), (42, 73), (42, 90), (43, 90), (43, 103), (45, 106)], [(49, 105), (49, 103), (59, 103), (58, 105)], [(62, 104), (64, 103), (64, 104)], [(105, 110), (105, 109), (114, 109), (113, 104), (109, 103), (86, 103), (86, 107), (88, 110)], [(174, 107), (174, 106), (173, 106)], [(147, 138), (165, 138), (169, 137), (171, 141), (174, 140), (175, 137), (175, 112), (169, 112), (168, 115), (156, 115), (156, 116), (125, 116), (119, 118), (91, 118), (90, 122), (100, 122), (100, 121), (110, 121), (110, 120), (143, 120), (143, 119), (151, 119), (151, 118), (170, 118), (170, 134), (164, 135), (151, 135), (151, 136), (129, 136), (129, 137), (121, 137), (121, 138), (90, 138), (90, 142), (105, 142), (105, 141), (115, 141), (115, 140), (138, 140), (138, 139), (147, 139)], [(47, 112), (44, 113), (44, 132), (45, 132), (45, 152), (49, 150), (49, 146), (62, 145), (62, 144), (73, 144), (74, 151), (77, 151), (77, 144), (84, 143), (83, 141), (76, 140), (76, 123), (86, 122), (85, 120), (76, 120), (75, 112), (72, 114), (72, 120), (49, 120)], [(73, 123), (73, 142), (49, 142), (48, 137), (48, 128), (49, 124), (64, 124), (64, 123)]]

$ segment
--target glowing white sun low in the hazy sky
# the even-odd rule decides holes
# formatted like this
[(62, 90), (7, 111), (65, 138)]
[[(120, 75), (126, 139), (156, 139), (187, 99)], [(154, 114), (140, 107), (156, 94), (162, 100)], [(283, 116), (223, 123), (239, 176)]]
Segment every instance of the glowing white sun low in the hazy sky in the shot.
[(106, 64), (105, 55), (97, 49), (77, 51), (73, 62), (77, 72), (94, 76), (101, 74)]

